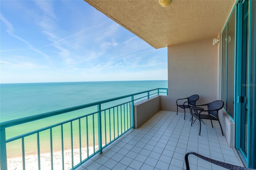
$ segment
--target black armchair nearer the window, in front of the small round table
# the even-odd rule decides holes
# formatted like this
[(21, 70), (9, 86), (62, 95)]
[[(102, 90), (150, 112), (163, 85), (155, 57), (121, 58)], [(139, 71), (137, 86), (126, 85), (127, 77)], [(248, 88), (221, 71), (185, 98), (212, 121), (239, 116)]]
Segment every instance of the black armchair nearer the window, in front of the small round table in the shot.
[[(196, 109), (193, 109), (193, 107), (198, 107), (198, 106), (207, 106), (207, 110), (200, 110), (199, 113), (197, 111), (195, 111), (193, 113), (192, 110), (196, 110)], [(190, 108), (191, 109), (190, 111), (191, 111), (191, 114), (192, 114), (191, 126), (192, 126), (192, 122), (193, 122), (193, 116), (196, 117), (196, 119), (198, 119), (199, 122), (200, 122), (199, 135), (201, 134), (201, 119), (211, 120), (211, 123), (212, 123), (212, 120), (218, 121), (219, 124), (220, 124), (220, 120), (219, 120), (219, 117), (218, 117), (218, 111), (220, 109), (222, 109), (223, 106), (224, 106), (224, 102), (221, 101), (221, 100), (216, 100), (216, 101), (213, 101), (213, 102), (205, 104), (205, 105), (194, 105), (194, 106), (192, 106)], [(208, 115), (201, 114), (203, 112), (207, 112)], [(212, 128), (213, 128), (213, 125), (212, 125)], [(220, 125), (220, 129), (221, 129), (221, 132), (222, 132), (222, 136), (224, 136), (221, 125)]]

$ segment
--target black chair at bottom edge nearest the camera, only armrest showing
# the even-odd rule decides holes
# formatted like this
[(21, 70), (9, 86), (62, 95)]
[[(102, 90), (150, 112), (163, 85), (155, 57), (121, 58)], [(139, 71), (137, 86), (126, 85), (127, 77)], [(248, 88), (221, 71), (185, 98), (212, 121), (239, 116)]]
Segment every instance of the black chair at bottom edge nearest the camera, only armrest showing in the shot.
[(225, 162), (220, 162), (218, 160), (214, 160), (214, 159), (211, 159), (211, 158), (207, 158), (205, 156), (202, 156), (200, 154), (197, 154), (195, 152), (187, 152), (186, 155), (185, 155), (185, 163), (186, 163), (186, 170), (190, 170), (189, 168), (189, 163), (188, 163), (188, 155), (195, 155), (197, 156), (198, 158), (201, 158), (203, 160), (206, 160), (212, 164), (216, 164), (218, 166), (222, 166), (224, 168), (227, 168), (229, 170), (253, 170), (253, 169), (249, 169), (249, 168), (244, 168), (242, 166), (236, 166), (236, 165), (232, 165), (232, 164), (228, 164), (228, 163), (225, 163)]

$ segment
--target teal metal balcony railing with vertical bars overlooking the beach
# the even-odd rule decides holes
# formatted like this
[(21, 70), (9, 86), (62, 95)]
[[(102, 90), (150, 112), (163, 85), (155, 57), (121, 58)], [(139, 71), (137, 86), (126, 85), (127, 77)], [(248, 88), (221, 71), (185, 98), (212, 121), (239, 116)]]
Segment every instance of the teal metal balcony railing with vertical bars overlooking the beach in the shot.
[[(23, 170), (30, 166), (26, 160), (26, 156), (31, 153), (34, 153), (35, 155), (36, 160), (34, 160), (34, 162), (36, 162), (38, 170), (44, 169), (42, 168), (40, 160), (42, 159), (42, 154), (47, 154), (49, 156), (48, 169), (54, 169), (56, 150), (60, 153), (59, 156), (61, 157), (61, 160), (59, 164), (61, 164), (62, 169), (75, 169), (96, 153), (102, 153), (103, 148), (134, 127), (134, 102), (150, 99), (150, 97), (160, 94), (168, 95), (168, 89), (152, 89), (131, 95), (2, 122), (0, 123), (1, 170), (7, 170), (7, 158), (12, 156), (8, 154), (8, 152), (13, 146), (17, 145), (20, 146), (19, 154), (22, 164), (20, 165), (20, 168), (23, 168)], [(87, 110), (85, 111), (85, 109)], [(63, 117), (67, 115), (66, 113), (68, 113), (69, 116), (73, 115), (74, 117), (63, 121)], [(47, 123), (49, 117), (51, 117), (51, 120), (56, 120), (56, 123), (38, 128), (37, 125), (40, 124), (38, 121)], [(6, 136), (10, 136), (8, 135), (8, 132), (10, 132), (12, 128), (22, 128), (19, 126), (25, 124), (28, 124), (26, 127), (29, 127), (29, 132), (6, 138)], [(12, 144), (12, 142), (14, 142), (14, 144)], [(35, 144), (34, 148), (32, 147), (31, 150), (33, 142)], [(8, 144), (10, 146), (8, 146)], [(47, 146), (49, 152), (42, 150), (43, 146)], [(78, 160), (74, 160), (75, 150)], [(67, 152), (70, 156), (67, 156)], [(70, 167), (65, 165), (65, 162), (70, 161)]]

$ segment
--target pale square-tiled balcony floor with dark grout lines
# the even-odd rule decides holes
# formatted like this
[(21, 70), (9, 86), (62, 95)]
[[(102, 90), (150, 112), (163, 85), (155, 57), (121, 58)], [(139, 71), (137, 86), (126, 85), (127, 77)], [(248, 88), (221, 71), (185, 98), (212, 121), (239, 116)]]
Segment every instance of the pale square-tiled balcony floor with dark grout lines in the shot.
[[(182, 170), (186, 169), (186, 152), (197, 152), (215, 160), (238, 165), (238, 158), (226, 139), (220, 125), (213, 121), (202, 124), (199, 136), (198, 120), (190, 126), (189, 114), (159, 111), (138, 129), (129, 130), (104, 148), (77, 170)], [(189, 157), (191, 170), (224, 170), (194, 155)]]

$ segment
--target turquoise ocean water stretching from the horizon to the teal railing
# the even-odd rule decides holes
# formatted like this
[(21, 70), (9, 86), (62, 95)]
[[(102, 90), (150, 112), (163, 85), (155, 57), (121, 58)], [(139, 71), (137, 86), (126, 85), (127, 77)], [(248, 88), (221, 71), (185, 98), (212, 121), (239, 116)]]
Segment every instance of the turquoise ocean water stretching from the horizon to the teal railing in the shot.
[[(0, 122), (167, 87), (167, 80), (0, 84)], [(68, 118), (68, 113), (60, 115), (58, 121)], [(50, 117), (34, 124), (7, 128), (6, 137), (30, 132), (33, 127), (52, 125), (55, 121), (56, 118)], [(49, 134), (40, 134), (40, 138), (49, 138)], [(10, 156), (20, 155), (16, 153), (20, 150), (18, 142), (8, 144)]]

